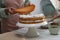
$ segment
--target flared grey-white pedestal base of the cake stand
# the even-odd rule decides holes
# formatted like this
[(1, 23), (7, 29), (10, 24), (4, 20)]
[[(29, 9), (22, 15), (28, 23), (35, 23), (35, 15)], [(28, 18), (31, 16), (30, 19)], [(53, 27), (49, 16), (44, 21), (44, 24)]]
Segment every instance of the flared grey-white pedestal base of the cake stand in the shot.
[(39, 33), (36, 31), (36, 28), (29, 27), (27, 33), (25, 34), (26, 37), (39, 37)]

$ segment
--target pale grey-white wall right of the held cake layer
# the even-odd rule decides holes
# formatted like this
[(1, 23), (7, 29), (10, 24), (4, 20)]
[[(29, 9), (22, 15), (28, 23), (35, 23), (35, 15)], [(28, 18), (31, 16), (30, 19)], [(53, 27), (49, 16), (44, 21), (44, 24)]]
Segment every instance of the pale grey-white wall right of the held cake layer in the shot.
[(40, 1), (41, 0), (30, 0), (30, 2), (32, 4), (35, 4), (35, 10), (33, 12), (31, 12), (31, 14), (40, 14), (41, 13)]

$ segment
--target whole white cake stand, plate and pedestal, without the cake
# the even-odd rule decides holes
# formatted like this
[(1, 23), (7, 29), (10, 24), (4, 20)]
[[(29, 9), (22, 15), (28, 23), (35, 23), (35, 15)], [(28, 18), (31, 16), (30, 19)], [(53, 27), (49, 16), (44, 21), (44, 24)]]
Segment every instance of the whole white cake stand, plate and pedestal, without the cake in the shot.
[(38, 37), (40, 34), (36, 31), (36, 28), (39, 28), (42, 25), (47, 25), (47, 21), (37, 24), (22, 24), (17, 22), (16, 25), (19, 27), (28, 28), (28, 31), (25, 34), (26, 37)]

